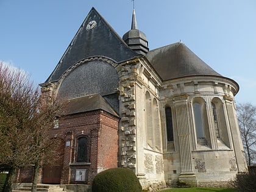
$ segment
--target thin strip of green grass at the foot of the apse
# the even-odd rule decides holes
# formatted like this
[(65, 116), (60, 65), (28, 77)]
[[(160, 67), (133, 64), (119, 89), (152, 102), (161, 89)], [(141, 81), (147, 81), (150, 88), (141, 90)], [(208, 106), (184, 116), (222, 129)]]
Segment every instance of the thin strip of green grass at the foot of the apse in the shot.
[(172, 188), (161, 192), (237, 192), (236, 189), (229, 188), (208, 188), (208, 187), (190, 187), (190, 188)]

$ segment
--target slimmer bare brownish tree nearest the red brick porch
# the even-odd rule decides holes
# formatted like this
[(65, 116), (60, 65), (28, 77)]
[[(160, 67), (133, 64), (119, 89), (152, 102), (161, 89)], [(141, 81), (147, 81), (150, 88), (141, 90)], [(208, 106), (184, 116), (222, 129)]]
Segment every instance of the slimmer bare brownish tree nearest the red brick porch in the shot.
[[(34, 165), (34, 180), (32, 185), (32, 192), (37, 191), (38, 171), (43, 165), (49, 165), (59, 160), (60, 140), (55, 135), (52, 138), (49, 135), (49, 130), (54, 127), (54, 119), (63, 113), (64, 102), (59, 102), (54, 98), (40, 99), (38, 105), (38, 112), (32, 119), (30, 152), (32, 159), (31, 163)], [(54, 157), (54, 158), (52, 158)]]

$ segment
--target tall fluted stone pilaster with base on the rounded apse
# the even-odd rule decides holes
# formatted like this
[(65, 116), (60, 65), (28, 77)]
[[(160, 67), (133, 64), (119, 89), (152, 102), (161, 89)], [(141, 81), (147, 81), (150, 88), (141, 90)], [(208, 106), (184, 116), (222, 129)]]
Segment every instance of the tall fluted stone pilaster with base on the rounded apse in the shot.
[(179, 181), (190, 186), (197, 186), (196, 175), (193, 172), (191, 148), (190, 148), (190, 123), (188, 119), (188, 96), (176, 96), (174, 98), (176, 110), (177, 134), (180, 148), (181, 172)]

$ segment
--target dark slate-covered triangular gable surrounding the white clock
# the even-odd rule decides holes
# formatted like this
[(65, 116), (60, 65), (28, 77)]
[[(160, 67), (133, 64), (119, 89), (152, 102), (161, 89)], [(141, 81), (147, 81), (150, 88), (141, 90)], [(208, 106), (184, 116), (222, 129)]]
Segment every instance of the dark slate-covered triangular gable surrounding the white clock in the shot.
[[(97, 23), (96, 27), (92, 30), (87, 30), (87, 24), (93, 20)], [(115, 30), (99, 15), (94, 7), (88, 13), (62, 59), (60, 59), (46, 82), (59, 80), (60, 76), (70, 66), (93, 56), (107, 57), (116, 63), (138, 57), (138, 54), (124, 43), (122, 38), (116, 34)]]

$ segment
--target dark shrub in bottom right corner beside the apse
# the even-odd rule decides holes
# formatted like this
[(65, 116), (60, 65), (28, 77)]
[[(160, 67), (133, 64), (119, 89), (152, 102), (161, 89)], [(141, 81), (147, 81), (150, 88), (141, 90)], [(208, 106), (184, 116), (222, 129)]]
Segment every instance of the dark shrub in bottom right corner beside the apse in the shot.
[(236, 175), (233, 186), (240, 192), (256, 191), (256, 171), (249, 169), (249, 172), (243, 172)]

